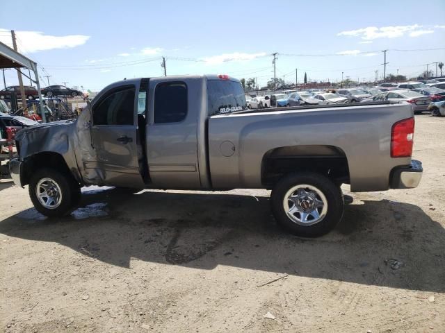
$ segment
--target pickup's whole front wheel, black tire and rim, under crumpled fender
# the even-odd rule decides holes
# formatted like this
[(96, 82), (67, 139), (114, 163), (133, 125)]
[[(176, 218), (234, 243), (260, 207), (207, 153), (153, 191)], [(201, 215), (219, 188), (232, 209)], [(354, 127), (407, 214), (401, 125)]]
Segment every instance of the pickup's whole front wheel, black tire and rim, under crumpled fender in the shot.
[[(46, 200), (45, 197), (40, 199), (37, 194), (40, 191), (46, 195), (44, 188), (48, 188), (52, 194), (46, 196)], [(42, 168), (31, 176), (29, 196), (38, 212), (48, 217), (60, 217), (70, 214), (79, 204), (81, 190), (71, 175), (52, 168)]]

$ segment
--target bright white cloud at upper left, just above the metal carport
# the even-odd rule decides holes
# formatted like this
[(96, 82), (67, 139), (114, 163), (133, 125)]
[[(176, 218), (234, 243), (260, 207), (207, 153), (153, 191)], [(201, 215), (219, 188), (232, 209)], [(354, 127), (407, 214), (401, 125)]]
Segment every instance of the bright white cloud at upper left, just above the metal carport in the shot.
[[(0, 28), (0, 42), (10, 43), (10, 37), (4, 33), (10, 33), (7, 29)], [(23, 53), (34, 53), (52, 49), (69, 49), (83, 45), (90, 36), (86, 35), (45, 35), (40, 31), (15, 31), (17, 36), (17, 48)]]

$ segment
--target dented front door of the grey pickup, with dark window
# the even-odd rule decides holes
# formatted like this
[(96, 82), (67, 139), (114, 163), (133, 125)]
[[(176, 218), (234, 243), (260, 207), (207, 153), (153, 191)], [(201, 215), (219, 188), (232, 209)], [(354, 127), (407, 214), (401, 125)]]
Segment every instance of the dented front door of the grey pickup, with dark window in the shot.
[(86, 162), (86, 169), (96, 169), (104, 185), (145, 187), (139, 169), (143, 149), (137, 138), (138, 89), (135, 85), (117, 87), (92, 105), (95, 154)]

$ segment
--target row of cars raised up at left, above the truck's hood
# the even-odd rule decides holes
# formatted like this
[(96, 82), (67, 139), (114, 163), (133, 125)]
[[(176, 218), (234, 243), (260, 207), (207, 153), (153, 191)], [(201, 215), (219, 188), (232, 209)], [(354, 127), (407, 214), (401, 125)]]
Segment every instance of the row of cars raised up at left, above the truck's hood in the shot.
[[(39, 94), (35, 87), (31, 85), (24, 86), (26, 99), (38, 99)], [(80, 90), (65, 87), (65, 85), (49, 85), (40, 89), (42, 96), (83, 96)], [(12, 94), (15, 93), (18, 99), (22, 99), (22, 93), (20, 92), (20, 87), (18, 85), (11, 85), (5, 89), (0, 90), (0, 99), (10, 99)]]

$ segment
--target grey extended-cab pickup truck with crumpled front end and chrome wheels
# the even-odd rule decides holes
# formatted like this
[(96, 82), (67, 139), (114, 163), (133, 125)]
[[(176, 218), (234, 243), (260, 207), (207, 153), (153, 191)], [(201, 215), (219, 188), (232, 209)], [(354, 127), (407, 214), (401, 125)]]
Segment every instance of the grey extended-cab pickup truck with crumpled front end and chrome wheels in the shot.
[(248, 110), (227, 75), (109, 85), (76, 121), (19, 131), (15, 184), (46, 216), (70, 213), (88, 185), (135, 189), (271, 189), (275, 219), (316, 237), (351, 191), (416, 187), (412, 106), (373, 102)]

